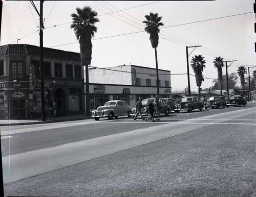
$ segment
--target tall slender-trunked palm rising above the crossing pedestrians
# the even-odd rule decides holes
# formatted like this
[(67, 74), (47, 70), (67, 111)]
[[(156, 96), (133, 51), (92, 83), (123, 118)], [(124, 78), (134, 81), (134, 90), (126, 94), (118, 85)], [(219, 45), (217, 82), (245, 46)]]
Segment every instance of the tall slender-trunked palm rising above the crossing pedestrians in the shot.
[(158, 13), (150, 13), (150, 15), (145, 15), (146, 20), (142, 23), (145, 23), (145, 32), (150, 34), (150, 41), (153, 48), (155, 48), (155, 58), (156, 58), (156, 72), (157, 72), (157, 95), (159, 95), (159, 78), (158, 78), (158, 63), (157, 63), (157, 46), (159, 39), (159, 27), (164, 26), (160, 20), (162, 16), (158, 16)]

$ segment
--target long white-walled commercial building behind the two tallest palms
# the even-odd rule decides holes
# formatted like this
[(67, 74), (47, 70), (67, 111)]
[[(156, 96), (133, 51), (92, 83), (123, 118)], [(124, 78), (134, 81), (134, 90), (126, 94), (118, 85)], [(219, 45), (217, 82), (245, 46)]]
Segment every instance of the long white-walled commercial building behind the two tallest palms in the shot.
[[(158, 70), (159, 93), (171, 97), (170, 71)], [(135, 106), (139, 97), (146, 99), (157, 95), (156, 69), (123, 65), (108, 68), (89, 69), (90, 110), (111, 100), (122, 100)]]

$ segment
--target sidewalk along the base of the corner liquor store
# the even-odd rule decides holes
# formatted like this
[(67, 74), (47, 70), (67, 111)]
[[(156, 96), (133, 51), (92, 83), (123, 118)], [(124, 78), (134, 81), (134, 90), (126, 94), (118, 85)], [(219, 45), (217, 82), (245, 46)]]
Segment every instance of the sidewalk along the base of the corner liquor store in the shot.
[(67, 116), (58, 116), (52, 117), (46, 121), (42, 121), (42, 118), (33, 118), (33, 119), (19, 119), (19, 120), (0, 120), (0, 127), (1, 126), (14, 126), (14, 125), (34, 125), (34, 124), (44, 124), (44, 123), (51, 123), (51, 122), (62, 122), (62, 121), (73, 121), (73, 120), (83, 120), (83, 119), (90, 119), (91, 117), (86, 116), (85, 114), (77, 114), (77, 115), (67, 115)]

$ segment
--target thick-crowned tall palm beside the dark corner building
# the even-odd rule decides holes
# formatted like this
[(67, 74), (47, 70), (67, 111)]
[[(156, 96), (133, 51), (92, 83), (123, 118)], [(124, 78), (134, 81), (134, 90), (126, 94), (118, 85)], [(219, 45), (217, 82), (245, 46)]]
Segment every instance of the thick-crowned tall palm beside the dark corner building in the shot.
[(95, 18), (98, 13), (93, 11), (90, 7), (76, 8), (77, 13), (72, 13), (71, 29), (74, 29), (76, 39), (80, 45), (80, 57), (82, 65), (86, 66), (86, 116), (90, 116), (90, 95), (89, 95), (89, 70), (88, 66), (92, 60), (92, 37), (97, 32), (97, 27), (94, 26), (99, 22)]

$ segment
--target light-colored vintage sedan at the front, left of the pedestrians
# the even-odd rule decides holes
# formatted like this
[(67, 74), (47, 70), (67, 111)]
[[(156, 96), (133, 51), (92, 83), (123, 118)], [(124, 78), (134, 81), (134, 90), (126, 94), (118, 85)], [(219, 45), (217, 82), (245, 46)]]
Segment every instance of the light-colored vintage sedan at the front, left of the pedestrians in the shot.
[(131, 109), (132, 108), (124, 101), (108, 101), (104, 106), (99, 106), (97, 110), (92, 111), (92, 118), (95, 120), (99, 120), (99, 118), (102, 117), (113, 119), (113, 117), (117, 118), (122, 115), (130, 117)]

